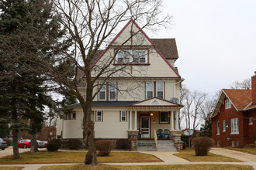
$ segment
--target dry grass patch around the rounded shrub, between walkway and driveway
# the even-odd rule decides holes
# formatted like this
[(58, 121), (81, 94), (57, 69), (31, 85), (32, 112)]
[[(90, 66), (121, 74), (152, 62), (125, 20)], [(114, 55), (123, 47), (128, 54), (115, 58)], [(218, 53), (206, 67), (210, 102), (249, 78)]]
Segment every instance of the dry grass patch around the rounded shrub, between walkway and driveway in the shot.
[(207, 156), (195, 156), (195, 151), (193, 148), (186, 148), (175, 154), (179, 158), (184, 158), (190, 162), (242, 162), (235, 158), (229, 158), (222, 155), (215, 155), (213, 153), (208, 153)]

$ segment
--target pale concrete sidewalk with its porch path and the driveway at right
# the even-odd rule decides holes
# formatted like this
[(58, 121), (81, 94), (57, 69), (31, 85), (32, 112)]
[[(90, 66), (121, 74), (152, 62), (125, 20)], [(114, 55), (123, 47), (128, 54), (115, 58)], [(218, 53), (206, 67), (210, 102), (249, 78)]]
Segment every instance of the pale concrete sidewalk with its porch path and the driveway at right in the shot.
[[(224, 155), (230, 158), (237, 158), (244, 162), (189, 162), (185, 159), (178, 158), (175, 151), (140, 151), (140, 153), (154, 155), (163, 162), (140, 162), (140, 163), (106, 163), (106, 165), (188, 165), (188, 164), (224, 164), (224, 165), (251, 165), (256, 170), (256, 155), (246, 154), (240, 151), (232, 151), (223, 148), (213, 148), (210, 152), (217, 155)], [(42, 166), (49, 165), (76, 165), (68, 164), (31, 164), (31, 165), (0, 165), (1, 166), (22, 166), (23, 170), (39, 169)]]

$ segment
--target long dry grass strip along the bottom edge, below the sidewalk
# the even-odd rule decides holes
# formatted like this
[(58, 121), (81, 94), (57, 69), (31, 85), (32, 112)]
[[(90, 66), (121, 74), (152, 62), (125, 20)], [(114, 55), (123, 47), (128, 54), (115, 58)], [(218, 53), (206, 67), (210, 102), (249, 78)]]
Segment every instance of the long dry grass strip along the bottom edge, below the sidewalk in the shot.
[(251, 166), (247, 165), (218, 165), (218, 164), (198, 164), (198, 165), (144, 165), (144, 166), (116, 166), (116, 165), (58, 165), (58, 166), (44, 166), (40, 170), (72, 170), (72, 169), (84, 169), (84, 170), (95, 170), (95, 169), (112, 169), (112, 170), (144, 170), (144, 169), (175, 169), (175, 170), (253, 170)]

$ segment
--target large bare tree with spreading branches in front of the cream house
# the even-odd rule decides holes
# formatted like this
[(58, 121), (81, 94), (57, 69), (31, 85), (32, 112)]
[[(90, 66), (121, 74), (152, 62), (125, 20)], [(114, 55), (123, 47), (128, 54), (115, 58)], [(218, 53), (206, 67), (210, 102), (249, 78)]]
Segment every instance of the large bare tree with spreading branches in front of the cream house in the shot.
[[(83, 138), (85, 145), (88, 147), (85, 164), (95, 165), (97, 164), (97, 157), (93, 138), (94, 122), (91, 119), (92, 100), (110, 77), (119, 76), (119, 73), (133, 76), (130, 73), (129, 64), (112, 65), (116, 53), (108, 52), (109, 58), (95, 64), (95, 60), (99, 56), (99, 49), (109, 44), (110, 39), (116, 35), (116, 29), (123, 22), (133, 19), (133, 21), (140, 23), (141, 29), (154, 31), (157, 29), (154, 26), (167, 26), (171, 17), (162, 15), (161, 0), (53, 0), (52, 2), (57, 14), (61, 15), (60, 22), (62, 26), (67, 29), (66, 39), (71, 40), (73, 46), (69, 51), (63, 51), (64, 56), (67, 57), (66, 60), (64, 56), (59, 58), (62, 64), (65, 63), (62, 69), (65, 68), (66, 73), (57, 72), (58, 70), (54, 67), (50, 68), (50, 73), (51, 76), (54, 76), (54, 80), (59, 84), (61, 90), (76, 97), (81, 104), (84, 114)], [(117, 52), (134, 36), (140, 36), (138, 32), (140, 30), (137, 32), (131, 30), (131, 35), (124, 38), (123, 43), (116, 47)], [(109, 49), (109, 46), (107, 46), (107, 49)], [(69, 70), (66, 63), (73, 64), (75, 69)], [(85, 75), (85, 97), (78, 89), (79, 84), (83, 83), (79, 71)], [(67, 73), (70, 74), (66, 76)], [(102, 83), (97, 87), (99, 80)]]

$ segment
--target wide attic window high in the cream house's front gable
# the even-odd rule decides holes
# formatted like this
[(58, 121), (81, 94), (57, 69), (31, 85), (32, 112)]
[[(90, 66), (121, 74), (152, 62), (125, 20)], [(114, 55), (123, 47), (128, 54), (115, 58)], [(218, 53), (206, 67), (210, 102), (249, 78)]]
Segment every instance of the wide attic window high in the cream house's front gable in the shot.
[(147, 63), (147, 49), (120, 49), (116, 54), (116, 63)]

